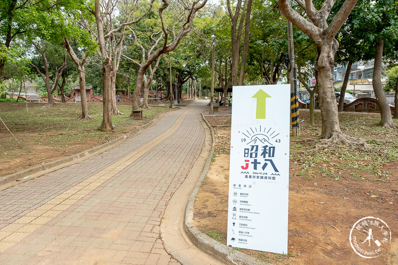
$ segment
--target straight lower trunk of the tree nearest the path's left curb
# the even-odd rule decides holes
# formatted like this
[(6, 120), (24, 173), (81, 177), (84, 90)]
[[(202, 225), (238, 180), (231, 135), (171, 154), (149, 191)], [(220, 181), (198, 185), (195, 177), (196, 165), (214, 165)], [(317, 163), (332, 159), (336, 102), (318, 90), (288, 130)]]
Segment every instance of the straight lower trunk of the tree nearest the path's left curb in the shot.
[(102, 97), (103, 97), (103, 109), (102, 109), (102, 123), (98, 128), (100, 131), (112, 131), (112, 115), (110, 111), (110, 72), (112, 65), (110, 59), (102, 63)]

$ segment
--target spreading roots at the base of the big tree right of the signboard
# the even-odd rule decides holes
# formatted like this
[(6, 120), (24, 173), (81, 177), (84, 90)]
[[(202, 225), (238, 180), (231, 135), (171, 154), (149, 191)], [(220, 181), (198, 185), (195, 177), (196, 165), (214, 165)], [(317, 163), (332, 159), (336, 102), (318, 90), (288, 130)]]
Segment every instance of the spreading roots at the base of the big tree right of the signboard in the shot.
[(354, 149), (370, 149), (370, 146), (364, 139), (354, 138), (343, 133), (335, 133), (329, 139), (320, 139), (320, 143), (315, 146), (315, 149), (324, 149), (335, 145), (346, 146)]

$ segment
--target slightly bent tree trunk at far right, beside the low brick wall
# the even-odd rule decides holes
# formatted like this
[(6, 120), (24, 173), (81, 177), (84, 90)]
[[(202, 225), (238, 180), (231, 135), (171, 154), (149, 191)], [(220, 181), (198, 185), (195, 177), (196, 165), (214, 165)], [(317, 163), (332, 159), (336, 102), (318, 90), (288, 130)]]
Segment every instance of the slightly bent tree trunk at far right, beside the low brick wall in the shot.
[(382, 60), (383, 60), (384, 40), (380, 37), (376, 43), (375, 65), (373, 67), (373, 90), (375, 91), (377, 104), (380, 108), (381, 121), (379, 125), (384, 128), (395, 128), (395, 123), (391, 116), (391, 109), (382, 86)]

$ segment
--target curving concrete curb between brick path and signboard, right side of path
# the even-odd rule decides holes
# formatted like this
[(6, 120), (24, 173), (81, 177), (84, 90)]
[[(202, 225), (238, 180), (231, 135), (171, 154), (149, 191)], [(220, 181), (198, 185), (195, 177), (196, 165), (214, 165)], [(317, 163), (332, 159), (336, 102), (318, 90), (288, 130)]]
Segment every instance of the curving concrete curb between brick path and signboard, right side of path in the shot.
[(201, 113), (202, 118), (211, 132), (211, 150), (206, 159), (206, 163), (204, 164), (202, 173), (199, 177), (195, 188), (193, 189), (186, 206), (185, 210), (185, 220), (184, 220), (184, 231), (187, 234), (188, 238), (191, 242), (197, 246), (201, 251), (209, 254), (214, 259), (230, 265), (251, 265), (258, 264), (258, 262), (240, 251), (235, 250), (232, 247), (220, 244), (214, 239), (210, 238), (206, 234), (199, 231), (199, 228), (195, 226), (194, 217), (194, 205), (195, 205), (195, 197), (198, 195), (199, 187), (204, 177), (207, 175), (208, 170), (210, 168), (211, 157), (214, 154), (215, 142), (214, 142), (214, 129), (204, 118), (203, 113)]

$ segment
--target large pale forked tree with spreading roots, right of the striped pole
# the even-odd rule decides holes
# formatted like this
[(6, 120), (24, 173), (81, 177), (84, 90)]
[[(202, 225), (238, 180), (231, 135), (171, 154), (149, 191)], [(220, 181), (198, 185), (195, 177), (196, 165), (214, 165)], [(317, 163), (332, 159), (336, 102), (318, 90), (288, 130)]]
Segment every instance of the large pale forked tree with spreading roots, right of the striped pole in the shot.
[(321, 143), (326, 146), (342, 144), (367, 148), (366, 142), (362, 139), (355, 139), (341, 133), (334, 94), (333, 66), (334, 55), (338, 48), (338, 42), (334, 37), (354, 8), (357, 0), (345, 0), (330, 23), (327, 23), (327, 18), (334, 4), (332, 0), (325, 1), (319, 10), (314, 7), (312, 1), (297, 0), (298, 5), (305, 10), (305, 16), (294, 10), (290, 1), (279, 0), (278, 2), (282, 13), (307, 34), (318, 49), (314, 71), (322, 117)]

